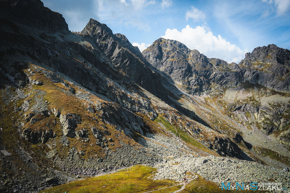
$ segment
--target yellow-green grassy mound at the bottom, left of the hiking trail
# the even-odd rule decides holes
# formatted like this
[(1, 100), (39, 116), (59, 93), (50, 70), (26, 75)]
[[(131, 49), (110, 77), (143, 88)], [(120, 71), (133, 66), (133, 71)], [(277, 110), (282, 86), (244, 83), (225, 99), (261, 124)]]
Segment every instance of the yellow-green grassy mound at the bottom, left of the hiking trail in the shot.
[[(67, 184), (55, 186), (42, 192), (146, 192), (170, 187), (177, 183), (171, 180), (153, 181), (148, 177), (155, 172), (155, 168), (148, 166), (133, 166), (114, 174), (87, 178)], [(154, 192), (174, 192), (181, 188), (177, 185)]]

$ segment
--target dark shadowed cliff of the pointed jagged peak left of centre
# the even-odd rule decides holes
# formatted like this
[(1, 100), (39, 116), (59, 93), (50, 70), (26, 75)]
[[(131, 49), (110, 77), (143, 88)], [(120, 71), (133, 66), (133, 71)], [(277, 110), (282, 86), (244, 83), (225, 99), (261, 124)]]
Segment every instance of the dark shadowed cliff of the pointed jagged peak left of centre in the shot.
[[(79, 34), (91, 43), (95, 43), (110, 58), (112, 64), (125, 72), (138, 85), (169, 102), (170, 88), (166, 88), (167, 80), (153, 71), (142, 57), (138, 48), (134, 47), (122, 34), (113, 34), (106, 24), (90, 19)], [(173, 87), (172, 87), (173, 89)]]

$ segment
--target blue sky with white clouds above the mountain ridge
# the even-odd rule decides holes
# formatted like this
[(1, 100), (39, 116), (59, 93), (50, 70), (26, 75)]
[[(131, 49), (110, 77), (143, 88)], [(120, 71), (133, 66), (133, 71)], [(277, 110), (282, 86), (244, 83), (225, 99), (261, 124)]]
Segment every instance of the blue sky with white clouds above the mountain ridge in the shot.
[(255, 47), (290, 49), (290, 0), (43, 0), (71, 31), (89, 19), (124, 34), (142, 52), (160, 37), (209, 58), (239, 63)]

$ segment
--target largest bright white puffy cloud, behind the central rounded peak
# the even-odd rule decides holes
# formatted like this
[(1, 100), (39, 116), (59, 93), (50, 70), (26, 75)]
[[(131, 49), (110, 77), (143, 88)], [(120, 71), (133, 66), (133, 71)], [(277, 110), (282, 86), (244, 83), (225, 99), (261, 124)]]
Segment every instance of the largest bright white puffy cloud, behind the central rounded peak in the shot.
[(185, 44), (189, 49), (197, 49), (209, 58), (220, 58), (229, 63), (238, 63), (245, 57), (247, 49), (242, 50), (234, 44), (227, 42), (222, 36), (214, 36), (204, 27), (191, 28), (186, 25), (181, 31), (167, 29), (162, 38), (173, 39)]

